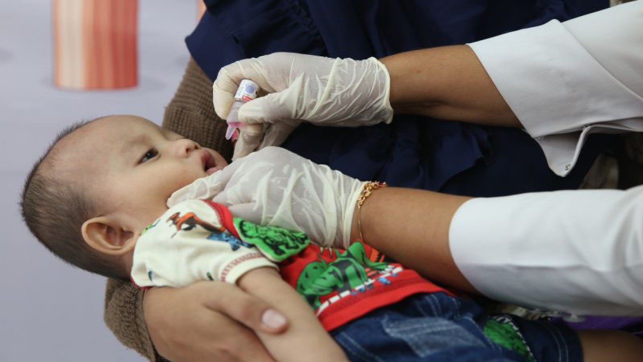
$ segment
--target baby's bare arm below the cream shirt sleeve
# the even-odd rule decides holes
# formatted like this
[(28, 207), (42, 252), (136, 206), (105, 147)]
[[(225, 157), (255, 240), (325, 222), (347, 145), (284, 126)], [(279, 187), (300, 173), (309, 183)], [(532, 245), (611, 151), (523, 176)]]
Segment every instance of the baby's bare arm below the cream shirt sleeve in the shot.
[(288, 319), (288, 329), (279, 335), (258, 333), (277, 361), (347, 361), (341, 348), (321, 327), (311, 307), (282, 280), (273, 268), (246, 272), (237, 285), (279, 309)]

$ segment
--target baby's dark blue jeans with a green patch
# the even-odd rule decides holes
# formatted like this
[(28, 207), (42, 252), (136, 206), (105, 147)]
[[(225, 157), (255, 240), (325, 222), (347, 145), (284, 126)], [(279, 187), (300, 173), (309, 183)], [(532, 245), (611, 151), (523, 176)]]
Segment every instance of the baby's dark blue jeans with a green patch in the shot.
[(331, 332), (351, 361), (582, 361), (566, 326), (488, 316), (445, 293), (416, 294)]

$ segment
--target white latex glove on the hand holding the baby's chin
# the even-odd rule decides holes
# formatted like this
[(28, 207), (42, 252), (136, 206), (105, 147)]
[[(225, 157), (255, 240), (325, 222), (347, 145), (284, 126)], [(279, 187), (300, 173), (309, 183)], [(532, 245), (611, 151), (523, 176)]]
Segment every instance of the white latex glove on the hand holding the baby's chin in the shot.
[(268, 147), (183, 187), (167, 204), (210, 198), (250, 222), (303, 231), (321, 246), (348, 247), (363, 184), (283, 148)]

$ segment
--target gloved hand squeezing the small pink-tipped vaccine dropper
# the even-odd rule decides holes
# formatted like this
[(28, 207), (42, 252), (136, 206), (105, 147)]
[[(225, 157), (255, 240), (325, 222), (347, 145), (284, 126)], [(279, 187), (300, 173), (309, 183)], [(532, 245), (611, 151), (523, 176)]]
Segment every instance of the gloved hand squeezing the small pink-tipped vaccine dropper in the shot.
[(388, 71), (375, 58), (355, 61), (273, 53), (234, 62), (221, 68), (212, 85), (214, 109), (222, 119), (228, 117), (242, 79), (257, 82), (270, 94), (239, 109), (239, 121), (246, 126), (241, 129), (233, 159), (259, 145), (264, 137), (259, 124), (271, 124), (261, 144), (266, 147), (284, 142), (302, 121), (357, 127), (393, 119)]

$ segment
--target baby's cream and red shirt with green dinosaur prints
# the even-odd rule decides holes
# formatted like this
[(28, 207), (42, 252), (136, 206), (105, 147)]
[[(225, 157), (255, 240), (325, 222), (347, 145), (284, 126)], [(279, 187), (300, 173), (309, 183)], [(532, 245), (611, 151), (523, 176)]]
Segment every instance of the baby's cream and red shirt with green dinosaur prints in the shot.
[(303, 233), (235, 218), (209, 200), (168, 209), (141, 234), (133, 260), (132, 282), (139, 287), (235, 283), (251, 269), (276, 266), (327, 330), (412, 294), (451, 294), (363, 243), (318, 247)]

